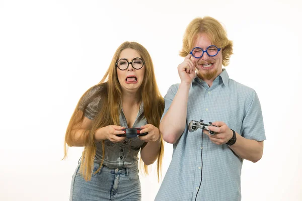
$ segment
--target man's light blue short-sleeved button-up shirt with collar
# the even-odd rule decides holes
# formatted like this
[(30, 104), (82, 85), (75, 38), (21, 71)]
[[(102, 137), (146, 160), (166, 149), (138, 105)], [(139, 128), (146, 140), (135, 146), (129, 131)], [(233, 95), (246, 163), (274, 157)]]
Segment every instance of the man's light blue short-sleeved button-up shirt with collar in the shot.
[[(178, 87), (172, 85), (165, 95), (163, 117)], [(198, 190), (196, 200), (241, 200), (243, 159), (228, 145), (211, 142), (201, 129), (188, 132), (190, 121), (200, 119), (204, 123), (222, 121), (247, 139), (266, 139), (255, 90), (230, 79), (225, 69), (211, 87), (195, 77), (189, 91), (187, 126), (173, 145), (172, 160), (155, 200), (195, 200)]]

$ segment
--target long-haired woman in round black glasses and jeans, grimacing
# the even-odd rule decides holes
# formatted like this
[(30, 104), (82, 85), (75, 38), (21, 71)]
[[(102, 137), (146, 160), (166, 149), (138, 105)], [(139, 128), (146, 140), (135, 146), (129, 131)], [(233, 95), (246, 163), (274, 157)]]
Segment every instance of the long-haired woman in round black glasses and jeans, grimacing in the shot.
[[(138, 152), (146, 173), (147, 165), (158, 160), (159, 177), (163, 111), (149, 53), (138, 43), (123, 43), (101, 82), (81, 97), (68, 124), (65, 143), (85, 146), (72, 177), (70, 200), (141, 200)], [(117, 136), (124, 128), (148, 134)]]

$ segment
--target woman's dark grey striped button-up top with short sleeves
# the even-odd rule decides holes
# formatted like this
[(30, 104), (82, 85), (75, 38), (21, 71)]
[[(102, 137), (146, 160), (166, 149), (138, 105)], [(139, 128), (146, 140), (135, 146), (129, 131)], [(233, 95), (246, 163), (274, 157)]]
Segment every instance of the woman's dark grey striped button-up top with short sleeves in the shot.
[[(83, 110), (83, 106), (93, 95), (97, 90), (99, 90), (100, 87), (93, 87), (86, 96), (84, 96), (81, 99), (80, 102), (80, 109)], [(94, 120), (94, 118), (98, 115), (98, 108), (101, 100), (101, 97), (97, 97), (92, 100), (91, 103), (88, 104), (86, 110), (85, 110), (85, 116), (91, 120)], [(128, 124), (125, 118), (125, 115), (123, 111), (120, 112), (120, 126), (123, 126), (125, 128), (128, 128)], [(143, 115), (143, 103), (141, 102), (139, 111), (137, 113), (135, 122), (133, 124), (133, 128), (141, 127), (143, 125), (146, 125), (147, 121), (144, 118)], [(98, 142), (97, 145), (97, 152), (95, 155), (94, 161), (97, 163), (101, 163), (102, 161), (102, 143)], [(104, 165), (108, 168), (114, 169), (114, 168), (131, 168), (134, 166), (137, 166), (138, 162), (138, 152), (141, 147), (145, 146), (146, 142), (140, 140), (138, 137), (136, 138), (125, 138), (122, 142), (111, 142), (110, 140), (105, 140), (105, 158), (104, 158)]]

